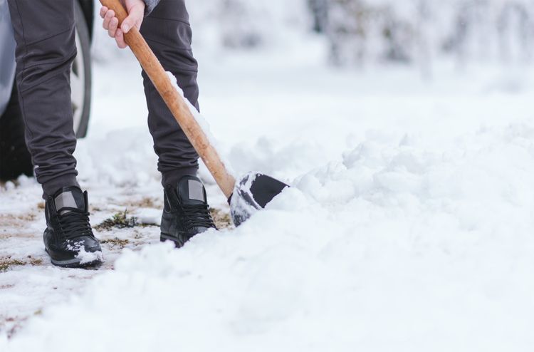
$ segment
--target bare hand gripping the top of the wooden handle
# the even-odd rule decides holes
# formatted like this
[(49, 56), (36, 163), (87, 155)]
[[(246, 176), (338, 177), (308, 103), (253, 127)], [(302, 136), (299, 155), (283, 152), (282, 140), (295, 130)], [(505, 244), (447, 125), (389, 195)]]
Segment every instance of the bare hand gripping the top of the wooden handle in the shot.
[(128, 33), (134, 26), (137, 29), (141, 28), (143, 18), (145, 17), (145, 1), (143, 0), (120, 0), (122, 5), (125, 6), (128, 16), (120, 28), (119, 19), (115, 17), (115, 11), (102, 6), (100, 9), (100, 17), (103, 18), (102, 26), (108, 30), (108, 34), (111, 38), (115, 38), (117, 46), (121, 49), (126, 48), (127, 44), (124, 41), (124, 33)]

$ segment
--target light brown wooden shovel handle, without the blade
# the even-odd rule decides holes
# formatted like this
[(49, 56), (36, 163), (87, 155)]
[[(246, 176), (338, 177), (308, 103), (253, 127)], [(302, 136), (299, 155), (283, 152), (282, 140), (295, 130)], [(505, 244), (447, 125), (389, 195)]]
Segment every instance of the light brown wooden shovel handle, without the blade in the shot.
[[(119, 26), (126, 19), (127, 12), (119, 0), (100, 0), (100, 3), (108, 7), (108, 9), (115, 11), (115, 16), (119, 20)], [(189, 142), (191, 142), (194, 149), (197, 150), (202, 160), (204, 160), (204, 164), (209, 172), (211, 172), (211, 175), (213, 175), (217, 185), (219, 185), (226, 198), (229, 198), (234, 191), (236, 180), (226, 170), (219, 154), (217, 154), (213, 145), (209, 143), (206, 134), (199, 123), (197, 123), (197, 120), (195, 120), (182, 95), (172, 85), (162, 64), (159, 63), (159, 60), (137, 28), (130, 29), (128, 33), (125, 33), (124, 38), (142, 68), (150, 77), (150, 81), (156, 87), (159, 95), (162, 96), (165, 104), (167, 104), (172, 115), (182, 130), (184, 130), (185, 135), (189, 138)]]

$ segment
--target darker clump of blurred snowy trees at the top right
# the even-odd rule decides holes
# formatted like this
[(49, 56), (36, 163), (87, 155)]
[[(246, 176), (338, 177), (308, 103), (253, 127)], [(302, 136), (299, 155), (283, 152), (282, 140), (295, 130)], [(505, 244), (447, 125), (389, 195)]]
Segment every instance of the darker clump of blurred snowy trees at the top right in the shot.
[(336, 64), (532, 57), (533, 0), (308, 0), (308, 7)]

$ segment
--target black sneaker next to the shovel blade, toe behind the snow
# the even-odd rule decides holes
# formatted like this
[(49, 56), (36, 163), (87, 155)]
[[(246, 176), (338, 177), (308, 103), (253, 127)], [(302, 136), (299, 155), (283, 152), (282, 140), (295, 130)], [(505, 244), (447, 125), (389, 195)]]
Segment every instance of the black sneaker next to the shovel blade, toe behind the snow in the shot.
[(177, 185), (165, 187), (161, 241), (182, 247), (195, 234), (216, 229), (209, 214), (206, 190), (197, 177), (184, 176)]

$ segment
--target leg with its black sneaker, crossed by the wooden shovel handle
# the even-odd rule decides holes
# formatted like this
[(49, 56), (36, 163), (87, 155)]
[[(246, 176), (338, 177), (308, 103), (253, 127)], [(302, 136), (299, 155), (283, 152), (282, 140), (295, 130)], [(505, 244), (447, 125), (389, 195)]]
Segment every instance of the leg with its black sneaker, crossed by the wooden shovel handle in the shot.
[[(163, 68), (177, 78), (185, 97), (198, 110), (197, 61), (191, 50), (192, 31), (184, 0), (160, 1), (143, 22), (141, 33)], [(196, 176), (199, 156), (145, 72), (143, 78), (148, 125), (164, 186), (160, 239), (182, 247), (193, 236), (215, 228), (215, 224), (206, 190)]]

